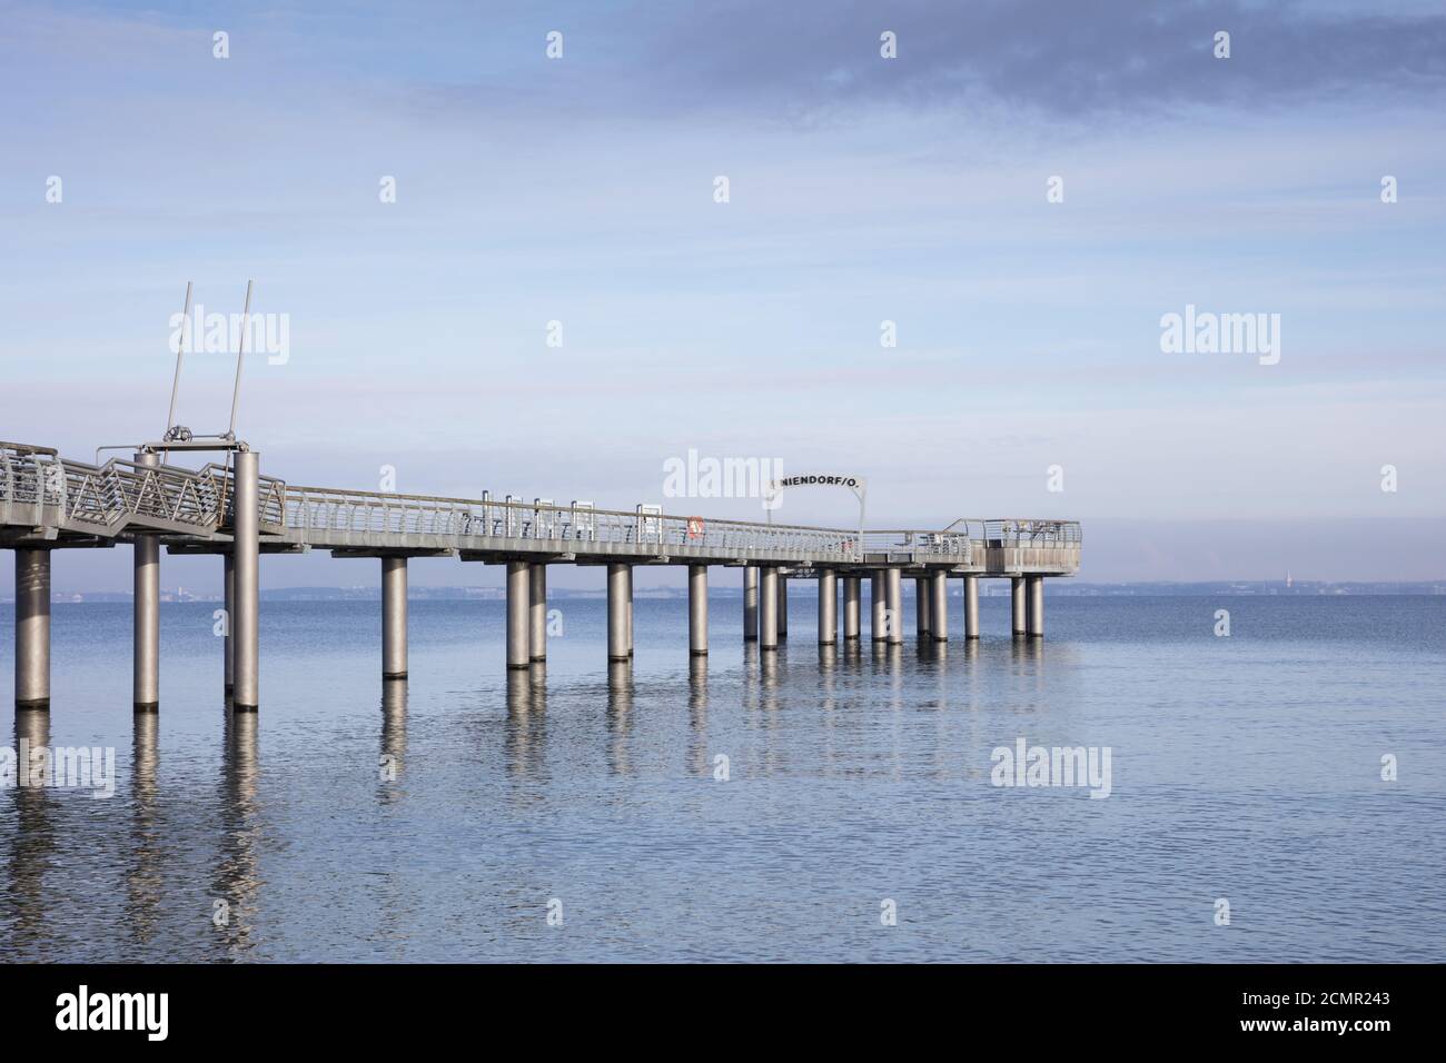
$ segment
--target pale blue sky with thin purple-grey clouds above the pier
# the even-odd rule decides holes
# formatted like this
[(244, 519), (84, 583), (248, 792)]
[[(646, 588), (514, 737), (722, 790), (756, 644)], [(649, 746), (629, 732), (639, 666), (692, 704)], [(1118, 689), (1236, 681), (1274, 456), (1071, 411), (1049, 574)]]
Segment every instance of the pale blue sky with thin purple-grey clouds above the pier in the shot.
[[(1440, 4), (0, 20), (0, 437), (75, 456), (153, 437), (185, 282), (236, 311), (254, 278), (291, 357), (249, 367), (241, 434), (296, 483), (372, 487), (390, 464), (403, 492), (632, 508), (691, 447), (865, 474), (889, 524), (1080, 518), (1086, 577), (1443, 576)], [(1280, 314), (1280, 363), (1161, 353), (1186, 304)], [(188, 363), (182, 422), (224, 425), (230, 372)], [(852, 506), (797, 495), (778, 518)], [(1420, 548), (1343, 550), (1346, 522)], [(126, 586), (117, 558), (56, 584)], [(266, 581), (353, 580), (286, 565)]]

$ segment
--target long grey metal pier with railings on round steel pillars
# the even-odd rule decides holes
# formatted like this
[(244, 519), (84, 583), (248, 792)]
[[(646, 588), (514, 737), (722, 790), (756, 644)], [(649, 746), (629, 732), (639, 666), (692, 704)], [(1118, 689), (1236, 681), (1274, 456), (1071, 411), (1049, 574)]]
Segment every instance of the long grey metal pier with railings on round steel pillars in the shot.
[(687, 568), (688, 651), (701, 658), (709, 652), (710, 568), (743, 570), (743, 638), (772, 654), (790, 638), (790, 579), (817, 586), (820, 646), (865, 638), (865, 580), (870, 586), (868, 638), (902, 644), (905, 579), (915, 581), (920, 644), (950, 639), (951, 579), (963, 583), (962, 638), (980, 636), (979, 581), (1006, 579), (1011, 633), (1030, 639), (1044, 636), (1045, 579), (1073, 576), (1080, 563), (1076, 521), (959, 519), (940, 531), (814, 528), (668, 515), (643, 505), (628, 512), (587, 502), (496, 499), (486, 492), (480, 499), (455, 499), (305, 487), (263, 474), (260, 454), (244, 443), (234, 444), (226, 463), (200, 469), (169, 464), (174, 456), (166, 447), (142, 448), (129, 458), (94, 464), (46, 447), (0, 443), (0, 547), (16, 555), (17, 710), (51, 704), (51, 560), (62, 550), (133, 551), (136, 713), (158, 712), (161, 704), (162, 547), (171, 554), (221, 558), (224, 693), (243, 713), (260, 706), (263, 555), (268, 564), (281, 564), (272, 555), (325, 550), (333, 557), (380, 563), (380, 673), (388, 683), (408, 677), (406, 579), (414, 557), (506, 567), (508, 671), (547, 659), (548, 565), (606, 570), (612, 670), (633, 659), (636, 565)]

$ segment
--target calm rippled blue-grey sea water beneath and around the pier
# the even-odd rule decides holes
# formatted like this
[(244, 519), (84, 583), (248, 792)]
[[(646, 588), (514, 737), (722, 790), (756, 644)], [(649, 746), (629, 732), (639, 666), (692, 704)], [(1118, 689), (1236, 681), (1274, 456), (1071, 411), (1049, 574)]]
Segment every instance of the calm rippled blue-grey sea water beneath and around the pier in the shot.
[[(114, 746), (117, 794), (0, 793), (0, 959), (1446, 960), (1446, 597), (1051, 597), (1027, 646), (954, 599), (943, 652), (821, 654), (795, 584), (766, 668), (717, 599), (706, 671), (639, 599), (612, 681), (602, 603), (554, 605), (509, 683), (500, 603), (414, 602), (383, 694), (377, 603), (263, 603), (240, 719), (214, 606), (165, 606), (140, 725), (129, 606), (56, 606), (0, 745)], [(1019, 736), (1112, 794), (991, 785)]]

